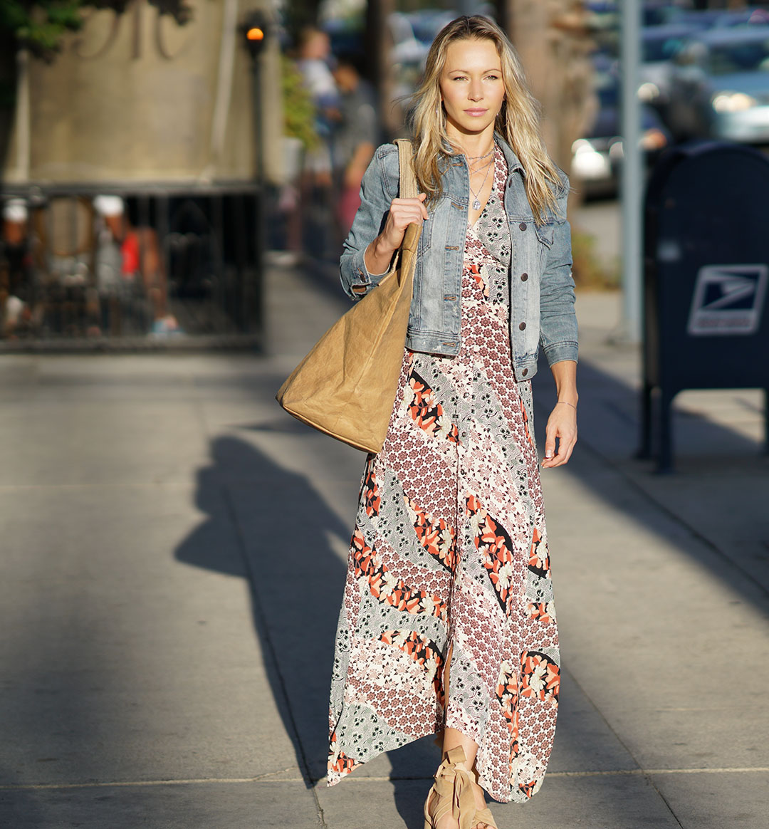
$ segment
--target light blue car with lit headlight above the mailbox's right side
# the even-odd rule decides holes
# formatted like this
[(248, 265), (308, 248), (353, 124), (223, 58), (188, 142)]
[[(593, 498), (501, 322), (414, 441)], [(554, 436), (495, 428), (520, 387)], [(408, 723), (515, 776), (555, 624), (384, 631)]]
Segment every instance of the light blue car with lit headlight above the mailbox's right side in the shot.
[(675, 57), (667, 123), (677, 139), (769, 143), (769, 28), (694, 36)]

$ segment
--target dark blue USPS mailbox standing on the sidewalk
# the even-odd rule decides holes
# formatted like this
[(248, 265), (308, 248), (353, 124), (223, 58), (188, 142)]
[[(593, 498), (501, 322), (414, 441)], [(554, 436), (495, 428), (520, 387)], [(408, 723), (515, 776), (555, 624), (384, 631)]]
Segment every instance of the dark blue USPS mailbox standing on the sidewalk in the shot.
[(652, 172), (645, 222), (639, 454), (651, 457), (655, 431), (667, 471), (681, 390), (761, 388), (769, 405), (769, 158), (730, 143), (670, 150)]

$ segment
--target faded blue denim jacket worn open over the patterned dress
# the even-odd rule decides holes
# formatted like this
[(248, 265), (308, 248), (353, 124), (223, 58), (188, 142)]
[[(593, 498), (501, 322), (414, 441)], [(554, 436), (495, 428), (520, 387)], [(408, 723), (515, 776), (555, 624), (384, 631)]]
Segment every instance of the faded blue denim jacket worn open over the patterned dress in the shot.
[[(577, 360), (577, 318), (571, 273), (571, 234), (566, 216), (568, 177), (559, 170), (560, 216), (549, 212), (536, 225), (524, 188), (525, 171), (510, 146), (496, 135), (505, 153), (505, 212), (510, 227), (510, 341), (515, 377), (530, 380), (541, 345), (548, 364)], [(428, 208), (414, 269), (414, 295), (406, 347), (412, 351), (456, 355), (460, 349), (462, 264), (467, 233), (470, 183), (462, 155), (445, 157), (443, 196)], [(385, 274), (370, 274), (365, 249), (385, 227), (390, 201), (398, 196), (398, 148), (377, 149), (360, 187), (360, 208), (341, 256), (341, 284), (360, 299)]]

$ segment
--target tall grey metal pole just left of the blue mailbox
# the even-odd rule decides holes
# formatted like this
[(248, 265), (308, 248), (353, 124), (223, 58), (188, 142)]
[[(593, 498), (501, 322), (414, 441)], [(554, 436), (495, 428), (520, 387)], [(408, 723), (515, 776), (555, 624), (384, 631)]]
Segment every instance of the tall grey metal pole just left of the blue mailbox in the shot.
[(641, 339), (641, 226), (644, 188), (641, 151), (641, 102), (638, 66), (641, 59), (641, 0), (621, 4), (621, 135), (622, 171), (622, 322), (621, 339)]

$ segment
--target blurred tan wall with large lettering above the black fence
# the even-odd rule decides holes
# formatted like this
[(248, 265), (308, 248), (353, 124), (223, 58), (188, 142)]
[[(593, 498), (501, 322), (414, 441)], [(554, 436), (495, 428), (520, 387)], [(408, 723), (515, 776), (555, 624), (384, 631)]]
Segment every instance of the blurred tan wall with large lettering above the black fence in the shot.
[[(239, 31), (256, 0), (191, 0), (178, 26), (147, 0), (89, 13), (51, 63), (22, 71), (6, 182), (195, 182), (254, 177), (254, 95)], [(282, 175), (274, 38), (263, 56), (265, 168)], [(26, 85), (26, 88), (25, 88)]]

